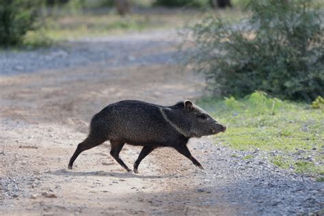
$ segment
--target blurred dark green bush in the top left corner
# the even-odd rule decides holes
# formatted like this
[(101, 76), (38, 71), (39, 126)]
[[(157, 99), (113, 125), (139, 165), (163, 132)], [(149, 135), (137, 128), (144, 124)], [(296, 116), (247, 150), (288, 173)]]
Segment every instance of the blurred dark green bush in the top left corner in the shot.
[(25, 33), (33, 29), (39, 1), (0, 0), (0, 46), (21, 42)]

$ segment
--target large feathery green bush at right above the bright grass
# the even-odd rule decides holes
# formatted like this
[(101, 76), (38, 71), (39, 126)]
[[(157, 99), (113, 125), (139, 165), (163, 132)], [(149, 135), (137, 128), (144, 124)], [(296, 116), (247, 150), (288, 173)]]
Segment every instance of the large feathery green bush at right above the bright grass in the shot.
[(196, 69), (223, 96), (255, 90), (293, 100), (324, 92), (323, 15), (311, 1), (251, 0), (238, 25), (208, 16), (191, 27)]

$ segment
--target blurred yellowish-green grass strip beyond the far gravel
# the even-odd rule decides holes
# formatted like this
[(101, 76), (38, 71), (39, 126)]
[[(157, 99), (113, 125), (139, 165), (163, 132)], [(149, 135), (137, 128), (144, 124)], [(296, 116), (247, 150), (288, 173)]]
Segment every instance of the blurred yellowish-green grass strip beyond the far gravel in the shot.
[[(82, 37), (100, 37), (118, 35), (122, 33), (140, 32), (148, 29), (168, 29), (184, 25), (193, 16), (200, 16), (202, 12), (183, 12), (180, 10), (165, 10), (163, 12), (148, 11), (133, 12), (126, 16), (119, 16), (116, 12), (107, 10), (97, 12), (88, 10), (72, 13), (70, 10), (53, 8), (43, 12), (44, 27), (30, 31), (28, 40), (44, 36), (44, 40), (59, 42), (74, 40)], [(34, 40), (35, 41), (35, 40)]]

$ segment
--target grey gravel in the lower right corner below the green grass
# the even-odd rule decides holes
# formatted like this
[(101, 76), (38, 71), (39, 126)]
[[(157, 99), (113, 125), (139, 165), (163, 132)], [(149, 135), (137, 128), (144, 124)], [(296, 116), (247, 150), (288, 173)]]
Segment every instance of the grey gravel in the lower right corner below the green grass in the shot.
[[(212, 144), (206, 142), (202, 146), (206, 149)], [(243, 159), (249, 154), (254, 158)], [(323, 183), (281, 170), (267, 163), (266, 157), (267, 154), (258, 150), (244, 152), (224, 146), (213, 147), (206, 163), (210, 165), (210, 170), (215, 170), (211, 182), (219, 187), (216, 193), (226, 192), (221, 198), (228, 202), (253, 206), (256, 215), (316, 214), (323, 209)], [(215, 158), (217, 162), (211, 162)], [(215, 187), (209, 189), (213, 191)]]

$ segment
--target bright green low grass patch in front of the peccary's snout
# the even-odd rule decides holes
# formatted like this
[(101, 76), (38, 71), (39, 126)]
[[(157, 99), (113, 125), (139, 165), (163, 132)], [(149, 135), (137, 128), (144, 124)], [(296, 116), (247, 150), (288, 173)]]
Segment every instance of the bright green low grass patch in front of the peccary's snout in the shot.
[[(293, 167), (301, 174), (323, 175), (324, 157), (320, 154), (324, 143), (323, 109), (310, 109), (306, 103), (270, 98), (264, 92), (254, 92), (239, 100), (233, 96), (224, 99), (206, 97), (200, 99), (198, 105), (227, 126), (225, 133), (215, 136), (216, 142), (235, 150), (278, 150), (279, 155), (269, 157), (278, 167)], [(296, 154), (300, 150), (302, 153)], [(314, 161), (295, 159), (308, 155)]]

